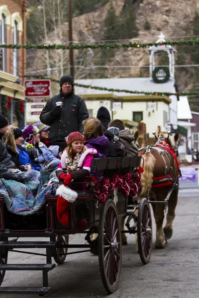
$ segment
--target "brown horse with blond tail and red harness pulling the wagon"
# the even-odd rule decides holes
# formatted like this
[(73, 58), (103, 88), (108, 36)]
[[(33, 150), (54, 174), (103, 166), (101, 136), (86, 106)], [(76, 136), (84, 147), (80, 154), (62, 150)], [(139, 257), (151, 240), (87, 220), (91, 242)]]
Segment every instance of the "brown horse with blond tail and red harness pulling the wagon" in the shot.
[[(170, 239), (173, 234), (173, 221), (179, 189), (179, 167), (175, 157), (178, 139), (179, 133), (176, 133), (174, 137), (160, 133), (154, 146), (141, 148), (138, 152), (138, 155), (144, 159), (141, 198), (146, 196), (149, 201), (162, 202), (152, 202), (156, 222), (156, 248), (164, 248), (167, 239)], [(165, 199), (168, 203), (168, 212), (166, 225), (163, 229)]]

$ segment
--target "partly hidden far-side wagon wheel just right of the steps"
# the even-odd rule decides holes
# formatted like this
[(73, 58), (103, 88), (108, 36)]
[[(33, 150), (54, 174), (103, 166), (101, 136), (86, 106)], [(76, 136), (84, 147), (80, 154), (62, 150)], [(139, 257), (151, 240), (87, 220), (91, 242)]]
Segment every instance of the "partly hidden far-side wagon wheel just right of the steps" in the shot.
[(53, 258), (57, 264), (63, 264), (66, 259), (68, 247), (60, 247), (60, 246), (68, 245), (69, 235), (57, 235), (56, 241), (58, 245), (55, 251), (55, 256), (53, 256)]

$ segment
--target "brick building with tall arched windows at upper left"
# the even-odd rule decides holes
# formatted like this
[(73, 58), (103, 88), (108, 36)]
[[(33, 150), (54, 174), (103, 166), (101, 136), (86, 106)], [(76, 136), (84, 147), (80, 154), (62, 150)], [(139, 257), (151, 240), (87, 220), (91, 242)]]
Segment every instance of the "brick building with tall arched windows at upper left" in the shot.
[[(0, 0), (0, 44), (26, 44), (26, 7), (27, 0)], [(23, 111), (25, 66), (25, 49), (0, 49), (0, 112), (9, 123), (19, 122)]]

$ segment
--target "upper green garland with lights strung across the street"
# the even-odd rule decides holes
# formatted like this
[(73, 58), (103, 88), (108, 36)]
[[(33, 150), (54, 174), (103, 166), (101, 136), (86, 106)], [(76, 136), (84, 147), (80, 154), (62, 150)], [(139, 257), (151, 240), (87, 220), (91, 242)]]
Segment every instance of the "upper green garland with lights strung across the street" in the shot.
[(18, 45), (18, 44), (0, 44), (0, 48), (6, 49), (45, 49), (45, 50), (79, 50), (79, 49), (128, 49), (128, 48), (148, 48), (152, 46), (181, 46), (181, 45), (195, 45), (199, 44), (199, 38), (196, 39), (187, 39), (187, 40), (173, 40), (173, 41), (165, 41), (161, 43), (156, 42), (148, 42), (148, 43), (78, 43), (78, 44), (26, 44), (26, 45)]

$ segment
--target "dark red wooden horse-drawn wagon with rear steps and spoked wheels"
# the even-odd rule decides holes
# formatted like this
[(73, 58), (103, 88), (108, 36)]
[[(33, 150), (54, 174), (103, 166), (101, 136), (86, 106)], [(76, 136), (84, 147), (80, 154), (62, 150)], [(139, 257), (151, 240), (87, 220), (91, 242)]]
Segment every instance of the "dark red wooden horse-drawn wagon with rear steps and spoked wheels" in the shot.
[[(47, 294), (48, 272), (57, 264), (65, 261), (67, 254), (85, 251), (97, 251), (100, 275), (105, 290), (110, 294), (116, 291), (122, 260), (121, 233), (137, 233), (141, 260), (148, 263), (152, 247), (152, 218), (148, 200), (137, 202), (129, 196), (134, 189), (138, 192), (138, 169), (141, 157), (95, 158), (92, 172), (103, 172), (103, 180), (92, 180), (91, 187), (85, 190), (79, 182), (71, 187), (77, 191), (78, 198), (69, 206), (69, 223), (63, 226), (57, 219), (57, 196), (46, 196), (46, 204), (34, 215), (19, 216), (10, 213), (4, 199), (0, 198), (0, 284), (7, 270), (40, 270), (43, 272), (41, 288), (3, 288), (0, 293), (38, 293)], [(128, 184), (129, 179), (131, 183)], [(136, 180), (137, 179), (137, 180)], [(79, 184), (79, 186), (78, 186)], [(56, 185), (54, 185), (56, 186)], [(54, 188), (52, 186), (52, 189)], [(123, 188), (123, 190), (122, 190)], [(101, 193), (102, 192), (102, 193)], [(105, 195), (104, 195), (105, 194)], [(101, 199), (100, 198), (105, 198)], [(135, 212), (138, 211), (138, 212)], [(127, 230), (120, 229), (120, 218), (126, 217)], [(130, 225), (132, 220), (133, 224)], [(87, 244), (70, 244), (69, 235), (85, 233)], [(93, 237), (95, 235), (95, 237)], [(24, 237), (48, 237), (50, 241), (18, 241)], [(43, 239), (42, 239), (43, 240)], [(23, 248), (23, 251), (20, 250)], [(29, 248), (45, 248), (46, 254), (25, 251)], [(84, 250), (68, 252), (68, 248)], [(8, 252), (16, 251), (45, 255), (45, 264), (7, 264)]]

